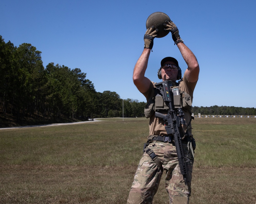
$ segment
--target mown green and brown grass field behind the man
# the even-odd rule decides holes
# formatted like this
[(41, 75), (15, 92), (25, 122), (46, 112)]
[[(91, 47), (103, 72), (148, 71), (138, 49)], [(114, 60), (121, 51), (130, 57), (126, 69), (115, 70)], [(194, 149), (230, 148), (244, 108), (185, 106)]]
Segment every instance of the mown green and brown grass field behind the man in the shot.
[[(256, 203), (256, 119), (196, 118), (190, 203)], [(0, 203), (126, 203), (148, 119), (0, 130)], [(169, 203), (161, 180), (154, 204)]]

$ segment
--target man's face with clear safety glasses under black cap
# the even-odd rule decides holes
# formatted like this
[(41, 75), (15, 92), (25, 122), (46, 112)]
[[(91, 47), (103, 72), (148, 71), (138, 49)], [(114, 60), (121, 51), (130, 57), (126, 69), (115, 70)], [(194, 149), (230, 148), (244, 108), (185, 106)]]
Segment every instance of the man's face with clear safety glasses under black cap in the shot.
[(173, 82), (176, 82), (178, 75), (178, 67), (174, 62), (165, 62), (161, 69), (163, 81), (171, 80)]

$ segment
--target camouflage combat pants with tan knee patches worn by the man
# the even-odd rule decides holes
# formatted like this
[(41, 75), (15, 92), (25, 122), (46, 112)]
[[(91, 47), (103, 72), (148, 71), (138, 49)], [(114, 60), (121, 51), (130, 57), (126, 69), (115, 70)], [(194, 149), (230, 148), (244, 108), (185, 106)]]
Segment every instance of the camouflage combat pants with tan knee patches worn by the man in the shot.
[[(148, 145), (148, 148), (155, 152), (163, 164), (163, 169), (166, 170), (165, 188), (169, 194), (170, 203), (188, 203), (191, 193), (193, 159), (187, 163), (188, 174), (186, 174), (186, 178), (188, 185), (185, 185), (174, 144), (152, 142)], [(183, 144), (183, 149), (184, 155), (192, 158), (187, 144)], [(162, 174), (163, 172), (157, 164), (144, 152), (138, 164), (127, 203), (152, 203)]]

